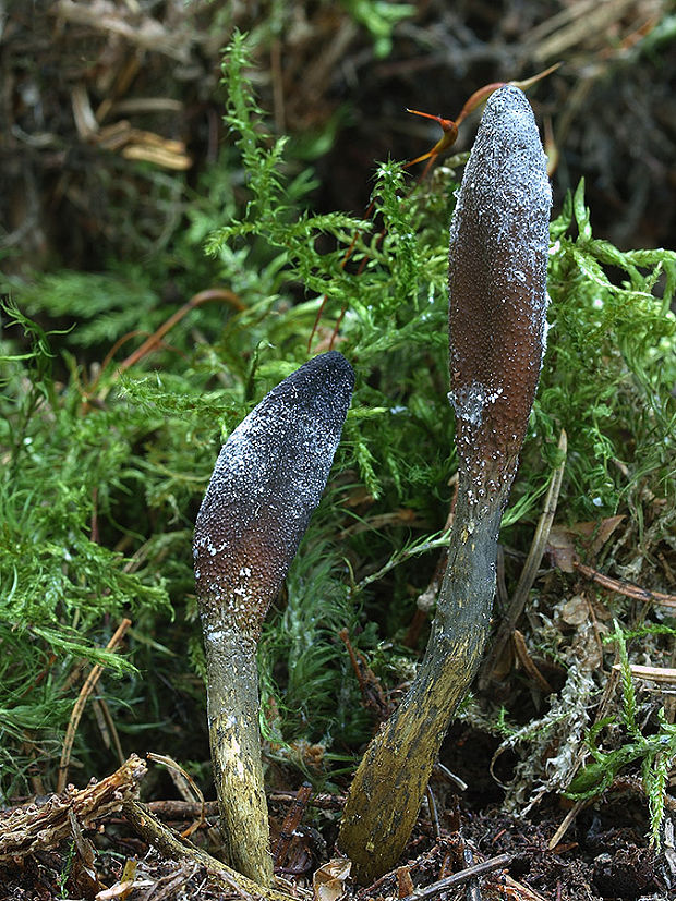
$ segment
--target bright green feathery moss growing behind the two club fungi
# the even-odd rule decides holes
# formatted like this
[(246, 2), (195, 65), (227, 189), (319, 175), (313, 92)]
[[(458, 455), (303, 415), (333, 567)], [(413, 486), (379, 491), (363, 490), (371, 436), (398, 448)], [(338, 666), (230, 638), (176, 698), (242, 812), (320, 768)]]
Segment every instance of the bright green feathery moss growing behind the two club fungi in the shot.
[[(261, 650), (282, 742), (323, 742), (327, 770), (357, 753), (373, 722), (337, 632), (348, 628), (395, 682), (385, 661), (400, 655), (396, 642), (444, 544), (456, 470), (446, 398), (455, 173), (414, 185), (386, 161), (374, 175), (373, 219), (313, 214), (314, 173), (266, 133), (249, 65), (238, 36), (224, 63), (233, 144), (198, 193), (185, 190), (184, 228), (154, 256), (100, 275), (3, 282), (13, 296), (0, 348), (4, 793), (26, 788), (36, 759), (53, 784), (79, 691), (70, 677), (83, 660), (120, 677), (106, 677), (100, 695), (125, 752), (157, 745), (206, 759), (194, 516), (221, 440), (334, 331), (357, 372), (354, 400)], [(626, 513), (650, 556), (675, 515), (676, 255), (620, 253), (594, 239), (582, 185), (552, 238), (548, 349), (504, 537), (528, 548), (564, 427), (559, 519)], [(166, 295), (169, 272), (181, 302)], [(145, 337), (215, 284), (243, 308), (201, 306), (123, 374), (114, 361), (138, 337), (98, 372), (128, 332)], [(105, 653), (125, 614), (126, 649)], [(95, 730), (85, 714), (75, 753), (100, 774), (111, 755)]]

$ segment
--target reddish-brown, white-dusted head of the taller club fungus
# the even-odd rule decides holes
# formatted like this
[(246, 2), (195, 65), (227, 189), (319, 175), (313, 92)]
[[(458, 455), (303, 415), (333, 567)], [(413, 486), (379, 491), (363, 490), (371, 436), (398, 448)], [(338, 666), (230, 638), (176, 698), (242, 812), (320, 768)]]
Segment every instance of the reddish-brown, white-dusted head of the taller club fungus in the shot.
[(530, 104), (488, 99), (450, 227), (449, 399), (470, 500), (511, 482), (544, 350), (552, 192)]

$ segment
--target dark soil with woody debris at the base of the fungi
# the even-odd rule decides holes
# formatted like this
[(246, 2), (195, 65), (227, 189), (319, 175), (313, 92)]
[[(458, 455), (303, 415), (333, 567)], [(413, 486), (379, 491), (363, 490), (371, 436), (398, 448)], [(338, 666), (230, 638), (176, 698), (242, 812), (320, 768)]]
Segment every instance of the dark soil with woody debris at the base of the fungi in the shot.
[[(278, 888), (287, 892), (298, 887), (301, 897), (312, 888), (317, 867), (334, 857), (336, 813), (340, 799), (322, 795), (323, 811), (311, 806), (306, 823), (295, 828), (293, 839), (281, 865), (276, 867)], [(170, 812), (171, 802), (167, 802)], [(154, 805), (155, 806), (155, 805)], [(213, 805), (210, 805), (213, 807)], [(280, 801), (270, 804), (273, 835), (278, 833), (285, 816)], [(468, 865), (507, 854), (508, 861), (496, 872), (482, 877), (479, 894), (466, 894), (466, 885), (443, 896), (457, 899), (523, 899), (536, 901), (602, 901), (605, 899), (674, 898), (676, 855), (674, 849), (655, 854), (645, 841), (645, 809), (640, 800), (627, 794), (609, 794), (583, 809), (559, 843), (550, 850), (552, 836), (567, 811), (555, 799), (543, 799), (529, 816), (506, 814), (497, 806), (468, 808), (458, 796), (447, 797), (438, 809), (438, 832), (431, 820), (421, 817), (411, 838), (401, 866), (371, 887), (357, 887), (348, 879), (347, 898), (401, 898), (413, 889), (432, 886), (440, 878), (459, 873)], [(193, 818), (168, 817), (167, 824), (177, 831), (190, 827)], [(312, 823), (312, 825), (310, 825)], [(210, 851), (216, 835), (215, 817), (208, 816), (192, 840)], [(84, 832), (83, 832), (84, 837)], [(188, 860), (170, 860), (141, 841), (123, 815), (101, 820), (85, 837), (92, 849), (83, 860), (80, 842), (28, 854), (15, 863), (0, 866), (0, 901), (56, 901), (57, 899), (126, 898), (130, 901), (162, 901), (200, 898), (204, 901), (244, 897), (225, 891), (212, 879), (204, 866)], [(136, 862), (132, 886), (120, 884), (129, 860)], [(411, 882), (408, 881), (410, 877)], [(468, 885), (470, 885), (468, 882)], [(403, 889), (401, 886), (408, 886)], [(106, 892), (106, 888), (109, 889)], [(102, 894), (100, 892), (104, 892)], [(117, 892), (117, 893), (116, 893)], [(432, 897), (432, 896), (427, 896)]]

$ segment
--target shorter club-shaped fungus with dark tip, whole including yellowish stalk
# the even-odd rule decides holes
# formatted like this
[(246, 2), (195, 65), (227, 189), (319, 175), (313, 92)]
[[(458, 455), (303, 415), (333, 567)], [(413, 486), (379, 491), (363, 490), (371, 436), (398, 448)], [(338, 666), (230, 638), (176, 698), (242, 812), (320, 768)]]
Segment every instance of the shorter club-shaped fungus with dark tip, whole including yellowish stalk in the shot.
[(269, 885), (256, 647), (340, 440), (354, 376), (333, 351), (274, 388), (230, 435), (195, 524), (214, 779), (228, 863)]

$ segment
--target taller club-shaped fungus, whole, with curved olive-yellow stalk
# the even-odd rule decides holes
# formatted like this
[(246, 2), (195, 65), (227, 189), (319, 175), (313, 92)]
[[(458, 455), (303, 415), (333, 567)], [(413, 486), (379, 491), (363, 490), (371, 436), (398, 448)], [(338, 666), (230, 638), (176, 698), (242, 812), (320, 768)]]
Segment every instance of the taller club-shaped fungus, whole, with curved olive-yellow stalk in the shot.
[(497, 536), (544, 349), (551, 203), (530, 105), (519, 88), (500, 87), (487, 101), (450, 228), (459, 491), (448, 564), (425, 657), (350, 788), (339, 845), (361, 882), (397, 863), (488, 634)]

